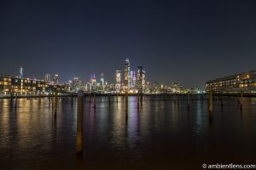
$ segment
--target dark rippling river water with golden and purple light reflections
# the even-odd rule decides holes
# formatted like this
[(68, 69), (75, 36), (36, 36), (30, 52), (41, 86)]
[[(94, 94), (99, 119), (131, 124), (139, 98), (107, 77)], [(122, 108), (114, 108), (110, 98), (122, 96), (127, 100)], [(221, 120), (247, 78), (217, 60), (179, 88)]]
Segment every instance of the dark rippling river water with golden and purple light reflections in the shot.
[[(0, 99), (0, 169), (201, 169), (203, 163), (256, 163), (256, 99), (96, 98), (84, 105), (84, 156), (76, 157), (77, 99)], [(12, 106), (11, 106), (12, 105)]]

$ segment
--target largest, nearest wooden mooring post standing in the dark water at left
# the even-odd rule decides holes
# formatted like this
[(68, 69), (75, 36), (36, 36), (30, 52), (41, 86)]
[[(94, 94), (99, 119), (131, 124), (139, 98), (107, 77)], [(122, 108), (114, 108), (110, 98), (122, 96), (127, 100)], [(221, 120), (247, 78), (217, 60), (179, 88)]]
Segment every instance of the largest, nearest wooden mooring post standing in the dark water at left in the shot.
[(83, 154), (83, 112), (84, 112), (84, 93), (78, 93), (78, 112), (77, 112), (77, 154)]

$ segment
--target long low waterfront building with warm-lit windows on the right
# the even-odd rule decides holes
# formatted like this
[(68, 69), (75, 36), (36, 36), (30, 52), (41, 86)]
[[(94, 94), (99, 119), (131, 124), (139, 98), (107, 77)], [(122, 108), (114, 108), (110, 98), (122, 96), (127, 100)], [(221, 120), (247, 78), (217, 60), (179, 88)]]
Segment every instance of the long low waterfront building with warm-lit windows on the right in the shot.
[(242, 72), (229, 77), (219, 77), (206, 84), (207, 92), (214, 93), (256, 93), (256, 71)]

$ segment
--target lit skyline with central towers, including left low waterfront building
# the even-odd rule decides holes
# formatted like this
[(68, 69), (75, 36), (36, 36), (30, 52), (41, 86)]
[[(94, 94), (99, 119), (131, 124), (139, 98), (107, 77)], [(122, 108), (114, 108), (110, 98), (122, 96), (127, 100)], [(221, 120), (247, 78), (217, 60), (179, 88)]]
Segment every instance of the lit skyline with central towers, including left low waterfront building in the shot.
[(112, 94), (163, 94), (163, 93), (183, 93), (186, 89), (179, 83), (172, 83), (170, 86), (158, 82), (146, 82), (146, 71), (143, 66), (137, 69), (131, 68), (130, 60), (125, 59), (123, 71), (115, 71), (115, 83), (108, 83), (104, 75), (96, 80), (95, 74), (90, 74), (88, 82), (82, 82), (79, 77), (74, 77), (72, 81), (60, 82), (58, 74), (53, 76), (46, 74), (44, 79), (24, 78), (23, 68), (20, 67), (20, 76), (11, 77), (0, 75), (0, 94), (39, 94), (51, 92), (84, 92), (91, 93), (112, 93)]

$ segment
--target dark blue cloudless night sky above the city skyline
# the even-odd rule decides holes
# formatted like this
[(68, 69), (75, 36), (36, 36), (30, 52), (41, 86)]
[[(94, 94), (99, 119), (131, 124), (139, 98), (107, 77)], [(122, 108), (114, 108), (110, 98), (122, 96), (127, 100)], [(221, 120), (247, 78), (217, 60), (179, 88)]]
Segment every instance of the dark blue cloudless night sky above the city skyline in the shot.
[(0, 1), (0, 73), (114, 82), (125, 58), (186, 87), (256, 70), (256, 1)]

